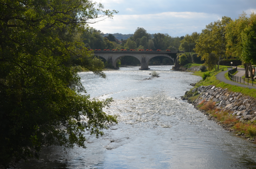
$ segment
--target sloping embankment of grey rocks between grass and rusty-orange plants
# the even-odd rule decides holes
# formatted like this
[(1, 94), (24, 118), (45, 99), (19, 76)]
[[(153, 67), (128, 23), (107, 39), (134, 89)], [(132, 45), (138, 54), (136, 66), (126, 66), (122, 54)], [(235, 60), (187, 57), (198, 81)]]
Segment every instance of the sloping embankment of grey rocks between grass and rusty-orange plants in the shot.
[[(195, 96), (197, 93), (199, 96), (194, 101), (191, 101), (189, 97)], [(215, 106), (219, 110), (228, 111), (236, 119), (242, 120), (256, 120), (256, 99), (244, 96), (242, 93), (230, 92), (227, 89), (221, 87), (199, 86), (194, 88), (190, 94), (187, 91), (183, 100), (188, 100), (194, 106), (198, 106), (203, 100), (216, 102)], [(190, 95), (190, 96), (188, 96)]]

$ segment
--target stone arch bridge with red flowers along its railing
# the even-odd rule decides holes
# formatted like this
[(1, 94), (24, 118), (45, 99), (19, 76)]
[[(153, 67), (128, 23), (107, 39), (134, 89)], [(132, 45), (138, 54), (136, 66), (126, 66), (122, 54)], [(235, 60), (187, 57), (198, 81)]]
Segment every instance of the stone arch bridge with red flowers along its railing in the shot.
[(139, 59), (141, 63), (141, 70), (147, 70), (149, 61), (156, 57), (156, 56), (166, 56), (173, 60), (175, 63), (176, 60), (176, 54), (177, 53), (184, 53), (184, 51), (130, 51), (130, 50), (96, 50), (94, 51), (95, 56), (100, 56), (105, 58), (109, 63), (112, 63), (114, 68), (116, 68), (116, 61), (122, 56), (133, 56)]

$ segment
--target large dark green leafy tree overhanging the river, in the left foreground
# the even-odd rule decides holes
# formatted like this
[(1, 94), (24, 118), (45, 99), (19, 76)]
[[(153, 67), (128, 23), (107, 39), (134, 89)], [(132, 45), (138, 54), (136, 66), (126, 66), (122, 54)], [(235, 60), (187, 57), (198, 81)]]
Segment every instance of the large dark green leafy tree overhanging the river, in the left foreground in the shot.
[(0, 2), (0, 165), (38, 157), (42, 146), (85, 148), (83, 131), (98, 137), (117, 122), (102, 110), (112, 99), (80, 94), (73, 69), (105, 77), (80, 37), (88, 23), (114, 13), (88, 0)]

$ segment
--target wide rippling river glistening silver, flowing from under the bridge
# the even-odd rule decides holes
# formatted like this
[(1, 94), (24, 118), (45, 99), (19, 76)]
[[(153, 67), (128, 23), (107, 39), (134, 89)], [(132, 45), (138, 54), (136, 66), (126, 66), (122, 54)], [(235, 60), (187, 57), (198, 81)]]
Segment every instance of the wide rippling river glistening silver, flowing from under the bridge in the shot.
[[(201, 77), (170, 70), (171, 66), (126, 67), (106, 71), (103, 79), (79, 73), (92, 98), (112, 97), (105, 112), (119, 123), (86, 149), (44, 148), (40, 160), (21, 162), (26, 169), (220, 169), (256, 168), (256, 145), (223, 130), (180, 96)], [(156, 70), (159, 78), (149, 78)], [(176, 97), (176, 98), (175, 98)]]

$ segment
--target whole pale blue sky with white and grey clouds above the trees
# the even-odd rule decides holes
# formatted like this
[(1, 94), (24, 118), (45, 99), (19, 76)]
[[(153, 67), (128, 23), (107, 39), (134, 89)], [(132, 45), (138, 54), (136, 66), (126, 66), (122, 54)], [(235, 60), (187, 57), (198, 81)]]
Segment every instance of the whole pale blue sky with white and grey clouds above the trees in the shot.
[[(256, 0), (97, 0), (105, 9), (117, 10), (113, 19), (89, 24), (103, 33), (133, 34), (137, 27), (148, 33), (184, 36), (222, 16), (236, 19), (244, 11), (256, 12)], [(249, 16), (249, 15), (248, 15)]]

